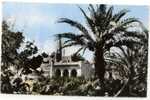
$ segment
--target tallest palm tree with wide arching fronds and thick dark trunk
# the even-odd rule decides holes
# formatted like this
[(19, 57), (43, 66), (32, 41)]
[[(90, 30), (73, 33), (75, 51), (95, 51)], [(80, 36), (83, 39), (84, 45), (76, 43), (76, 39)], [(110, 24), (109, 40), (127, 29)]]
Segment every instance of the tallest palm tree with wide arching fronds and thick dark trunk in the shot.
[(125, 18), (124, 16), (129, 12), (126, 9), (113, 13), (113, 6), (107, 7), (104, 4), (89, 5), (88, 10), (90, 15), (80, 8), (87, 26), (71, 20), (69, 18), (60, 18), (58, 23), (66, 23), (79, 30), (79, 34), (73, 32), (66, 32), (57, 34), (56, 37), (61, 36), (65, 38), (62, 48), (70, 46), (80, 46), (76, 53), (89, 49), (94, 52), (95, 60), (95, 75), (104, 81), (105, 61), (104, 53), (109, 51), (111, 47), (127, 46), (132, 48), (134, 44), (141, 44), (140, 34), (136, 30), (132, 30), (137, 26), (135, 23), (141, 23), (136, 18)]

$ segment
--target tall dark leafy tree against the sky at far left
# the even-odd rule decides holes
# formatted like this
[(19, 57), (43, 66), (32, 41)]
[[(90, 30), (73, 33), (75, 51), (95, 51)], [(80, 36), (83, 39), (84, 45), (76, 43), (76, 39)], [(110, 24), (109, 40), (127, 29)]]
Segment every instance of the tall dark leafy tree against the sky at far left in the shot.
[(17, 49), (23, 42), (22, 32), (13, 32), (7, 25), (6, 21), (2, 23), (2, 71), (7, 69), (9, 65), (16, 64), (19, 58)]

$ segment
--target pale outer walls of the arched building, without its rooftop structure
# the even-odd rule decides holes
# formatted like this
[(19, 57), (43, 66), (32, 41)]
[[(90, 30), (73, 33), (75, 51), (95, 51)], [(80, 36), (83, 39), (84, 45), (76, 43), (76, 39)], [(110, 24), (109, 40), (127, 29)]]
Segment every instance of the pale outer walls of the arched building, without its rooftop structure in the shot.
[[(60, 70), (60, 77), (68, 73), (68, 77), (73, 76), (73, 70), (76, 71), (76, 77), (83, 76), (85, 78), (91, 78), (94, 75), (92, 64), (85, 61), (78, 62), (55, 62), (54, 64), (50, 61), (46, 64), (42, 64), (41, 68), (44, 71), (44, 76), (52, 77), (56, 76), (56, 70)], [(74, 72), (75, 73), (75, 72)]]

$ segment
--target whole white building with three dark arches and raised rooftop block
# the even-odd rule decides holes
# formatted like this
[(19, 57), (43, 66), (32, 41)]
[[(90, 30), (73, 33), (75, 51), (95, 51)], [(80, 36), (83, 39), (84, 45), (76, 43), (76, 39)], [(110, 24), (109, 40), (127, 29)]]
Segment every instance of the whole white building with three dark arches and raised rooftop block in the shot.
[(88, 61), (72, 61), (71, 57), (62, 57), (57, 62), (48, 57), (41, 65), (44, 75), (47, 77), (85, 77), (91, 78), (94, 75), (92, 64)]

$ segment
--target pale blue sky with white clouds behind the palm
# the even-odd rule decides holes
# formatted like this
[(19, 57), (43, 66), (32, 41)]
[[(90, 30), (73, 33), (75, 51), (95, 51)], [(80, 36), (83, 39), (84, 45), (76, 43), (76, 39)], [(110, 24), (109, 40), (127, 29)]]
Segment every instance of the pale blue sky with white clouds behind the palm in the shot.
[[(88, 5), (80, 4), (49, 4), (49, 3), (15, 3), (3, 2), (3, 20), (14, 25), (14, 30), (23, 31), (26, 41), (34, 41), (39, 48), (39, 53), (51, 54), (56, 49), (55, 34), (63, 32), (77, 32), (76, 29), (67, 24), (57, 23), (59, 18), (70, 18), (86, 25), (84, 17), (78, 6), (87, 11)], [(148, 27), (148, 6), (125, 6), (113, 5), (117, 12), (128, 9), (130, 12), (126, 17), (136, 17)], [(71, 47), (65, 50), (65, 55), (70, 55), (77, 48)], [(88, 53), (87, 53), (88, 52)], [(93, 59), (92, 53), (86, 51), (84, 57)]]

